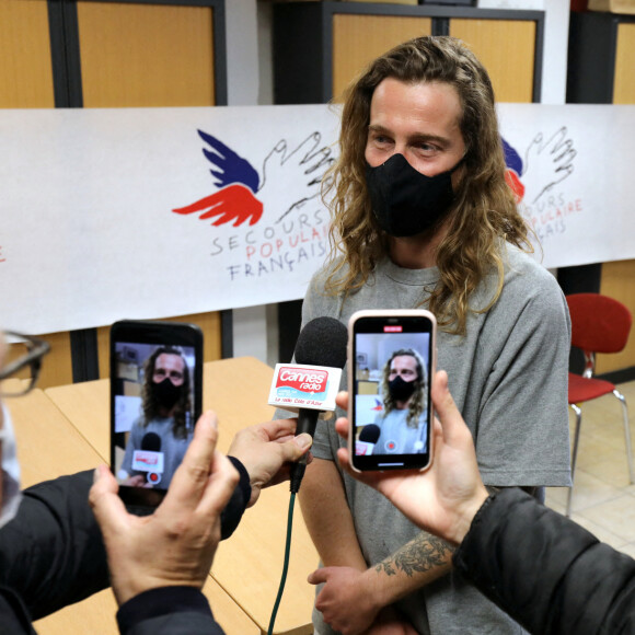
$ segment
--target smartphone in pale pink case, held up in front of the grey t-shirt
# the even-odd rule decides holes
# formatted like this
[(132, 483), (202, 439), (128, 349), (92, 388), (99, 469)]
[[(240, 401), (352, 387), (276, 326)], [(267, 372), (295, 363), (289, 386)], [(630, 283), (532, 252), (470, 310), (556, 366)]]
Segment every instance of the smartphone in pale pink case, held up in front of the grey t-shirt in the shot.
[(358, 311), (348, 322), (354, 470), (430, 465), (437, 321), (425, 310)]

